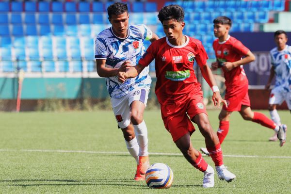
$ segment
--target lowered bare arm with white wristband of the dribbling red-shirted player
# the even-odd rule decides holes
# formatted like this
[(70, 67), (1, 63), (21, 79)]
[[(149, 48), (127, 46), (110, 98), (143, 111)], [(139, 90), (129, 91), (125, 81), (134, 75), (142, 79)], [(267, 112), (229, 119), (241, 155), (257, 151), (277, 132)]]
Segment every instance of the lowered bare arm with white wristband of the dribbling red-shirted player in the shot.
[(207, 81), (207, 83), (209, 84), (213, 92), (212, 100), (213, 100), (214, 106), (217, 106), (218, 108), (220, 108), (220, 103), (224, 103), (227, 107), (226, 100), (222, 99), (222, 97), (220, 96), (218, 86), (213, 77), (210, 67), (207, 64), (205, 64), (203, 66), (200, 66), (200, 70), (201, 70), (203, 78)]

